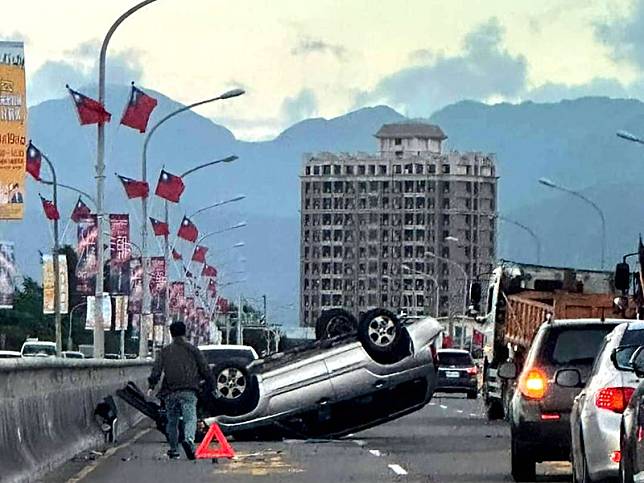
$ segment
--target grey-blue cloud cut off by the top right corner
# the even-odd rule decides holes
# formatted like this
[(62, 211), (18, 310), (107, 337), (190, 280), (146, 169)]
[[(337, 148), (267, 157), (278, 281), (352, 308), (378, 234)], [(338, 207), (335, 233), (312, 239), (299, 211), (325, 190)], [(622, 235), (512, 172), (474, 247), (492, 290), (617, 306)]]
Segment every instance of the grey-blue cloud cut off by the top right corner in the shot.
[(594, 25), (595, 36), (606, 45), (615, 60), (644, 69), (644, 1), (636, 0), (632, 11), (620, 18)]

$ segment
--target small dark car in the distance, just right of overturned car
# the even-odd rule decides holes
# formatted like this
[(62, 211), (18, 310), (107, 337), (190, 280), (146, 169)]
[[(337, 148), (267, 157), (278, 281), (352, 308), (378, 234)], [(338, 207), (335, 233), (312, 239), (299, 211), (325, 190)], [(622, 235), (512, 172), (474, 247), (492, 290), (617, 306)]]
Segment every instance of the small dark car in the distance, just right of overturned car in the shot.
[(470, 353), (460, 349), (441, 349), (438, 356), (438, 382), (435, 392), (466, 393), (476, 399), (478, 368)]

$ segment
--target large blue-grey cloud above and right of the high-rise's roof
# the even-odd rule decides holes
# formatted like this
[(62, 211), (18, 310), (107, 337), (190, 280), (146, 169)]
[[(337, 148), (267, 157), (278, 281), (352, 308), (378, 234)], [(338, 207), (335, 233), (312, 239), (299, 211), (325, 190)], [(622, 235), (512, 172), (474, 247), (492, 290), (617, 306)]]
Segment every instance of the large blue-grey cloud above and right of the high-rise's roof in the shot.
[(427, 116), (462, 99), (518, 97), (526, 83), (526, 60), (511, 55), (502, 43), (503, 29), (492, 18), (465, 37), (461, 55), (437, 55), (390, 74), (360, 94), (357, 104), (384, 103), (409, 116)]

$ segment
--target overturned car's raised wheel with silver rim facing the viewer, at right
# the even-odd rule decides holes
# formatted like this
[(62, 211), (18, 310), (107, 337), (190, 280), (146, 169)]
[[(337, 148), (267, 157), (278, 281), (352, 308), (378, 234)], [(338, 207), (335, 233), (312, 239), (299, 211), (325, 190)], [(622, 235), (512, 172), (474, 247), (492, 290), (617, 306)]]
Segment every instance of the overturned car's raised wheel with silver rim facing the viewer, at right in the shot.
[(388, 310), (369, 310), (360, 319), (358, 338), (374, 359), (391, 357), (398, 352), (403, 340), (402, 324), (398, 317)]

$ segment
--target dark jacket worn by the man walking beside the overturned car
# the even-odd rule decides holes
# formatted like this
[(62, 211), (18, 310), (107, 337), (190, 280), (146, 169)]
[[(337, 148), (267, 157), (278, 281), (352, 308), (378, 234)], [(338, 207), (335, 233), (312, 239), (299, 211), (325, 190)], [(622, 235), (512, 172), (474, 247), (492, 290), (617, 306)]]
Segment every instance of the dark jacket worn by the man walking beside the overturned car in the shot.
[(175, 338), (157, 355), (148, 378), (150, 389), (159, 383), (164, 375), (159, 395), (175, 391), (199, 392), (201, 381), (212, 387), (212, 376), (206, 359), (199, 349), (190, 344), (184, 337)]

